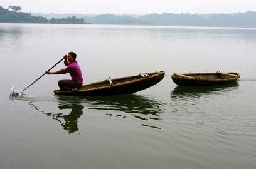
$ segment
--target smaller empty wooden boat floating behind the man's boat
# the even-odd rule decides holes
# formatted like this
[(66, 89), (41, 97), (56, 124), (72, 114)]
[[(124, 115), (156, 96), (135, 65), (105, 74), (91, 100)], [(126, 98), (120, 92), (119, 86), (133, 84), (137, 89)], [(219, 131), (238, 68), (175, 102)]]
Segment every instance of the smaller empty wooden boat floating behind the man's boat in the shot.
[(174, 73), (171, 78), (179, 86), (210, 86), (232, 83), (240, 78), (239, 73)]

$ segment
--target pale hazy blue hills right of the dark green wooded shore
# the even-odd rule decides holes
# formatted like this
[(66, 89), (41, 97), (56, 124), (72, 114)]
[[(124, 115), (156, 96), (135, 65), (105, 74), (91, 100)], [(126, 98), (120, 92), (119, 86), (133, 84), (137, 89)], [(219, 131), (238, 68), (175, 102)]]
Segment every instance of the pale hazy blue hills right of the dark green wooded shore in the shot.
[(231, 26), (256, 27), (256, 11), (235, 14), (173, 14), (153, 13), (142, 16), (116, 16), (101, 14), (95, 17), (83, 17), (93, 24), (147, 24), (159, 26)]

